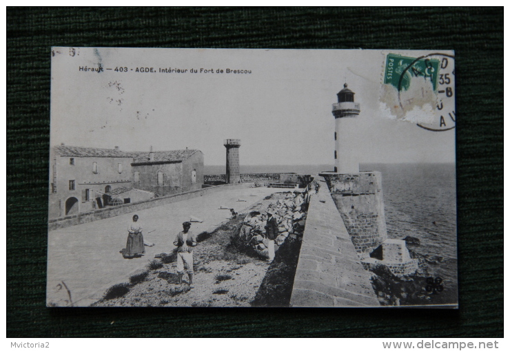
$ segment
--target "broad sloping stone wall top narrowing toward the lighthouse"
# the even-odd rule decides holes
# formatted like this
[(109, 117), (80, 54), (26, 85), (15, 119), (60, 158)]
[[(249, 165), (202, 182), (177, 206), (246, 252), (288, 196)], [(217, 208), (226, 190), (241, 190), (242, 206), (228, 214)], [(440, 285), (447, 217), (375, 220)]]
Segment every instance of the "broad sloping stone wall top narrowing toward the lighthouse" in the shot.
[(312, 195), (290, 306), (380, 306), (324, 178)]

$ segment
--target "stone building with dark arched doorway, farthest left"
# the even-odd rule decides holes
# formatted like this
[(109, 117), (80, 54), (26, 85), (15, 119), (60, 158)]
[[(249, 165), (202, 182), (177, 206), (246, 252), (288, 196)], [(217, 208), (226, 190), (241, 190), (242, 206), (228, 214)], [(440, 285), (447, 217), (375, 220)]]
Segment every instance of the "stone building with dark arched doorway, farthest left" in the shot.
[(107, 206), (110, 191), (131, 187), (132, 160), (118, 148), (59, 145), (50, 149), (49, 217)]

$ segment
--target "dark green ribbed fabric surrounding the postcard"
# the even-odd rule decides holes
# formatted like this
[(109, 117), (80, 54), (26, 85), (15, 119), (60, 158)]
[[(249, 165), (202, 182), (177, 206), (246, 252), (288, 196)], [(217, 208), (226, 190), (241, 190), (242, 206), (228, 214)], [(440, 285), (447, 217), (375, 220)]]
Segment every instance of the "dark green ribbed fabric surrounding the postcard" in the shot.
[[(456, 50), (460, 309), (46, 308), (52, 45)], [(8, 8), (7, 72), (7, 337), (503, 336), (502, 8)]]

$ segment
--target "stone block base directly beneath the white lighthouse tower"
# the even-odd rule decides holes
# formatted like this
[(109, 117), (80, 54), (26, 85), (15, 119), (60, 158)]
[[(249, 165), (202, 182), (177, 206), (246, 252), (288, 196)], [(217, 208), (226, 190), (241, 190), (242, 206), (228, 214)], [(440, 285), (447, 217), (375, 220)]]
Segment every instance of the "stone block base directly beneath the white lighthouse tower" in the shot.
[(380, 172), (323, 175), (356, 251), (370, 253), (387, 239)]

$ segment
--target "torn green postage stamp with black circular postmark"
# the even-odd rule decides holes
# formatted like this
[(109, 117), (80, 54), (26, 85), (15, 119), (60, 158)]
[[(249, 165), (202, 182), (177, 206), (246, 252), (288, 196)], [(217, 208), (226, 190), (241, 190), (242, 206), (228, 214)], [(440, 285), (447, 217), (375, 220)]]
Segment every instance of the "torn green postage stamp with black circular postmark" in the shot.
[(385, 53), (380, 103), (394, 118), (429, 131), (455, 128), (453, 52)]

